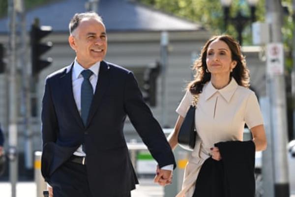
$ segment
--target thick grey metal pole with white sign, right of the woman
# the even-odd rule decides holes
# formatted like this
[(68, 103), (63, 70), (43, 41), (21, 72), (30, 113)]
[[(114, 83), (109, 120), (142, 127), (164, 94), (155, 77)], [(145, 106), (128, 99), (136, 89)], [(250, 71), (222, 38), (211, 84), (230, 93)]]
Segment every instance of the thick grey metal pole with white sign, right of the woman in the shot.
[[(266, 20), (270, 24), (271, 42), (282, 42), (281, 0), (266, 0)], [(283, 64), (283, 63), (282, 63)], [(287, 164), (287, 107), (284, 72), (267, 75), (267, 95), (270, 99), (274, 192), (275, 197), (289, 197), (289, 177)]]

